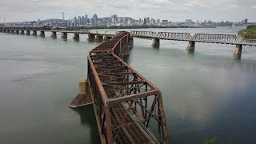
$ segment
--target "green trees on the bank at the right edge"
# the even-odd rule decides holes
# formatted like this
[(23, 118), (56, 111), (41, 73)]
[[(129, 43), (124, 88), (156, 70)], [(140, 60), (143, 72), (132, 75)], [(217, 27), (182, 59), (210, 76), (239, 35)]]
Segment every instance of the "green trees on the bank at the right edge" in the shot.
[(240, 30), (238, 35), (248, 39), (256, 39), (256, 25), (247, 26), (246, 30)]

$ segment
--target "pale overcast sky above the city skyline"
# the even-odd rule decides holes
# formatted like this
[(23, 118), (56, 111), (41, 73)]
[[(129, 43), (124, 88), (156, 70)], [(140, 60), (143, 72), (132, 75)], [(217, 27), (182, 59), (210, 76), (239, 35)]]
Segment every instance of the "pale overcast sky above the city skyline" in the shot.
[(248, 18), (256, 22), (256, 0), (1, 0), (0, 22), (111, 14), (170, 21), (213, 20), (230, 22)]

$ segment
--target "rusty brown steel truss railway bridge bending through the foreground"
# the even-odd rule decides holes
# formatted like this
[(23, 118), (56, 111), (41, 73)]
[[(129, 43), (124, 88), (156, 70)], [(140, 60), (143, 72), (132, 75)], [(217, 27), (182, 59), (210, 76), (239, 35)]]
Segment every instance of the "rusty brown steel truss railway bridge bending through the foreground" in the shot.
[(102, 143), (169, 143), (161, 91), (122, 61), (129, 45), (130, 33), (120, 32), (87, 57)]

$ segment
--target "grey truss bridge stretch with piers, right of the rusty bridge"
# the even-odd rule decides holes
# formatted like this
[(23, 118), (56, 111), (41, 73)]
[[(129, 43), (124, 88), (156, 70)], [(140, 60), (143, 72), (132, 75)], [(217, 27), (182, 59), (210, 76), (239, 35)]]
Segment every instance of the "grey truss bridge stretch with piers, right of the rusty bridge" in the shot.
[(234, 54), (242, 54), (242, 46), (256, 46), (256, 39), (241, 40), (234, 34), (194, 34), (190, 33), (172, 33), (172, 32), (156, 32), (156, 31), (131, 31), (133, 38), (147, 38), (154, 39), (152, 46), (160, 46), (160, 39), (174, 40), (174, 41), (186, 41), (189, 42), (187, 50), (194, 51), (195, 42), (207, 42), (218, 44), (230, 44), (235, 45)]

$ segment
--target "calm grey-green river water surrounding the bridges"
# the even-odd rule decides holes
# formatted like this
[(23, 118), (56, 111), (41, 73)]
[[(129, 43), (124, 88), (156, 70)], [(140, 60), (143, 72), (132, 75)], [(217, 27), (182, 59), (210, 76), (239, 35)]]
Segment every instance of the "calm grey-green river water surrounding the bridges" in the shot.
[[(241, 28), (154, 29), (236, 34)], [(58, 36), (59, 37), (59, 36)], [(0, 143), (98, 143), (92, 107), (67, 105), (86, 78), (86, 55), (97, 42), (0, 33)], [(242, 59), (232, 45), (134, 38), (128, 63), (162, 90), (173, 143), (256, 141), (256, 47)]]

